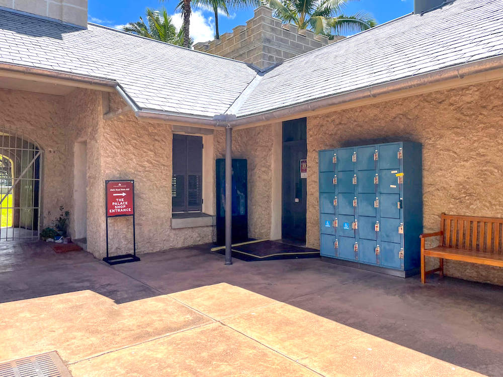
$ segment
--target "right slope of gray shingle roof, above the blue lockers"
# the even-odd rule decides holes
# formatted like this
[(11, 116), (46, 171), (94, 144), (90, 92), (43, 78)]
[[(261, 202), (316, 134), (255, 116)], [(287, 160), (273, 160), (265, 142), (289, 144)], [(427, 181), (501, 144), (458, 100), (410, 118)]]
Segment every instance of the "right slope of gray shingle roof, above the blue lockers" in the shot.
[(503, 1), (455, 0), (283, 62), (261, 78), (237, 116), (501, 54)]

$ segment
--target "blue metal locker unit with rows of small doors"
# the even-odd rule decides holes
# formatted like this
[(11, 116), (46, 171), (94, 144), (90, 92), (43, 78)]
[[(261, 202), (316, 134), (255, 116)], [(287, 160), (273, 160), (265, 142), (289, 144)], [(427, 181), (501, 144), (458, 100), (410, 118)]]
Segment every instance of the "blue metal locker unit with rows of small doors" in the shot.
[(421, 144), (319, 151), (320, 254), (406, 277), (420, 268)]

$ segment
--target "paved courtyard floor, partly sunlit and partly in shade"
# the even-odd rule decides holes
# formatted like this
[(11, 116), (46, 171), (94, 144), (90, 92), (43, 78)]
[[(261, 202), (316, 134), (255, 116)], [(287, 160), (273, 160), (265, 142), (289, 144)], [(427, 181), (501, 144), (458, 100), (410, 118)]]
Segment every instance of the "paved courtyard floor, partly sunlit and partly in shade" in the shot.
[(74, 377), (503, 375), (501, 287), (318, 259), (224, 266), (209, 246), (114, 267), (1, 246), (0, 362), (56, 350)]

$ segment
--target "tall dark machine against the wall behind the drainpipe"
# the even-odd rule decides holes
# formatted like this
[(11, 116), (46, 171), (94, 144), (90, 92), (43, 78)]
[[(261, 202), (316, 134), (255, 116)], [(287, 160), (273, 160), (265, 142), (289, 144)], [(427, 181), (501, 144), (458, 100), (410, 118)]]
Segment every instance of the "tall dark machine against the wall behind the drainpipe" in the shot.
[[(225, 159), (216, 160), (217, 244), (225, 244)], [(232, 159), (232, 243), (248, 240), (248, 164)]]

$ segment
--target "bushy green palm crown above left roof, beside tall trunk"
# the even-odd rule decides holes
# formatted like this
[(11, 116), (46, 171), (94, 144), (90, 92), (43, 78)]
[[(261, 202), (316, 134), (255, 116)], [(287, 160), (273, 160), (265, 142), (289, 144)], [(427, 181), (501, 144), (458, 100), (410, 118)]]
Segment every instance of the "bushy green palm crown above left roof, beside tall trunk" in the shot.
[[(174, 45), (184, 45), (184, 36), (182, 30), (177, 32), (171, 17), (167, 15), (165, 9), (154, 11), (147, 8), (145, 11), (147, 22), (140, 17), (139, 21), (130, 22), (122, 28), (125, 32), (140, 35), (142, 37), (156, 39), (158, 41), (171, 43)], [(189, 39), (189, 47), (192, 45), (192, 40)]]

